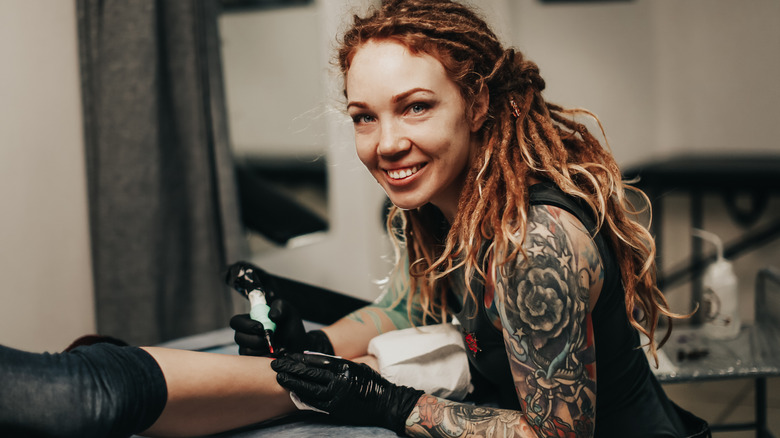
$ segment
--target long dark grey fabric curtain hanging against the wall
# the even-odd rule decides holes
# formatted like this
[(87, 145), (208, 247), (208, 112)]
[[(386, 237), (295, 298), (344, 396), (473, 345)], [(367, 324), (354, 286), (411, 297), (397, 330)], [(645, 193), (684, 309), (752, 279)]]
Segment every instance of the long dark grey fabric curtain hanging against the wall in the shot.
[(226, 327), (243, 255), (215, 0), (77, 0), (97, 327)]

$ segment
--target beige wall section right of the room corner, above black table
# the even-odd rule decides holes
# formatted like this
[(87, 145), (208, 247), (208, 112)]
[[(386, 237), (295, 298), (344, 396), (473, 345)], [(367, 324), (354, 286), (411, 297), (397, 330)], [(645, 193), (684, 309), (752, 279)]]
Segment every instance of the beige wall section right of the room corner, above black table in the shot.
[(652, 2), (664, 152), (780, 151), (780, 2)]

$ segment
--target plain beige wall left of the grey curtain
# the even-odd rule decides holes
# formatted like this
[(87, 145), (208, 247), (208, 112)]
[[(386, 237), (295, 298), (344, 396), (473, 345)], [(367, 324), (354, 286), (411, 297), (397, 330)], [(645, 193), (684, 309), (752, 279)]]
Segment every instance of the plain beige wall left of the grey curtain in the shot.
[(92, 333), (72, 0), (0, 0), (0, 344), (59, 351)]

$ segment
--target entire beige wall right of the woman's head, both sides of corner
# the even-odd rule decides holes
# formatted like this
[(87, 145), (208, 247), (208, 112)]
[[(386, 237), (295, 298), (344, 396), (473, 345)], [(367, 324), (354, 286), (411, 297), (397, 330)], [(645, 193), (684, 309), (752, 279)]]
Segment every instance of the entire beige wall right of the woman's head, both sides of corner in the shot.
[(596, 113), (622, 165), (780, 150), (777, 1), (506, 3), (502, 27), (539, 64), (547, 98)]

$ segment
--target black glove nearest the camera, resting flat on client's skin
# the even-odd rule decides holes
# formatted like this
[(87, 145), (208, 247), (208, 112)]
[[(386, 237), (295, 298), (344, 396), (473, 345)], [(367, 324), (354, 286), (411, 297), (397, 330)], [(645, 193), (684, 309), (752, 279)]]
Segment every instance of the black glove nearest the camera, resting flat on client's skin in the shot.
[(365, 364), (313, 354), (271, 362), (280, 385), (340, 421), (379, 426), (403, 435), (423, 391), (390, 383)]

